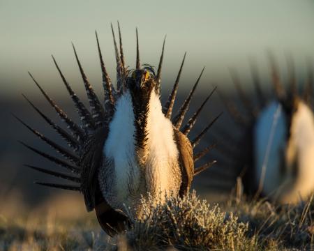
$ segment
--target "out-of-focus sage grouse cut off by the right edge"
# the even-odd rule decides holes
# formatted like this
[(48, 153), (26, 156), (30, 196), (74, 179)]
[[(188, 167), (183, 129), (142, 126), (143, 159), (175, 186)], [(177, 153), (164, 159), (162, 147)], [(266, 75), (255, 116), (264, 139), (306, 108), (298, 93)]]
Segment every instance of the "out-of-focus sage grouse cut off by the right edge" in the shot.
[(219, 93), (240, 135), (234, 136), (234, 126), (233, 135), (224, 130), (225, 140), (221, 143), (225, 144), (220, 153), (225, 156), (223, 165), (237, 170), (246, 194), (282, 204), (297, 203), (314, 192), (313, 75), (309, 69), (306, 83), (301, 83), (304, 91), (299, 94), (292, 59), (287, 61), (287, 84), (279, 77), (274, 56), (270, 54), (269, 59), (275, 95), (262, 91), (255, 64), (253, 98), (244, 93), (234, 71), (232, 79), (239, 102), (231, 103)]

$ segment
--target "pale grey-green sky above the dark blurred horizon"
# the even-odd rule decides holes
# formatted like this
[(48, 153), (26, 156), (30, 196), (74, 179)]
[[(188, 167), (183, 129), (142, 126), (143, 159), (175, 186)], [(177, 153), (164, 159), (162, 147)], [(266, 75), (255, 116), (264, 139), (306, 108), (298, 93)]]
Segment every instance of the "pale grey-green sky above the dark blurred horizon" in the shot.
[[(270, 49), (285, 66), (291, 54), (299, 73), (314, 59), (314, 1), (43, 1), (0, 0), (0, 95), (36, 96), (27, 71), (50, 91), (64, 91), (51, 54), (70, 84), (83, 85), (70, 45), (72, 41), (95, 89), (100, 67), (94, 31), (98, 31), (107, 68), (114, 79), (110, 22), (119, 20), (127, 64), (135, 64), (135, 27), (140, 34), (142, 63), (158, 64), (167, 35), (163, 79), (173, 82), (184, 52), (188, 52), (182, 85), (188, 86), (206, 66), (203, 86), (227, 86), (228, 68), (248, 75), (248, 58), (266, 69)], [(265, 70), (264, 70), (265, 71)], [(265, 71), (266, 72), (266, 71)], [(206, 82), (206, 83), (205, 83)]]

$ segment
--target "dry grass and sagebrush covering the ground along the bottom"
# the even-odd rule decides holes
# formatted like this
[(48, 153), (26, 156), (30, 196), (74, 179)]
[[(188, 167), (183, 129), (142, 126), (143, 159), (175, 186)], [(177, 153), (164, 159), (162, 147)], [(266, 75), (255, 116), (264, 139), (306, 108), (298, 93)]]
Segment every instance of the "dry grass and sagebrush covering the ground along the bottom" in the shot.
[(45, 205), (15, 217), (2, 212), (0, 250), (314, 250), (313, 199), (299, 206), (245, 199), (209, 206), (192, 192), (165, 204), (143, 203), (143, 218), (114, 238), (83, 210), (62, 216)]

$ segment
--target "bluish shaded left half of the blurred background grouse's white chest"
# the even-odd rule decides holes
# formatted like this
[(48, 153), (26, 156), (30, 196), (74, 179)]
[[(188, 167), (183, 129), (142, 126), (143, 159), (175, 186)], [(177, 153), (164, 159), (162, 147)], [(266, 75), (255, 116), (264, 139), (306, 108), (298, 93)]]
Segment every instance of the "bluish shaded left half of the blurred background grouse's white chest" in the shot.
[(287, 118), (279, 102), (271, 102), (254, 128), (255, 182), (265, 195), (281, 185), (281, 164), (287, 144)]

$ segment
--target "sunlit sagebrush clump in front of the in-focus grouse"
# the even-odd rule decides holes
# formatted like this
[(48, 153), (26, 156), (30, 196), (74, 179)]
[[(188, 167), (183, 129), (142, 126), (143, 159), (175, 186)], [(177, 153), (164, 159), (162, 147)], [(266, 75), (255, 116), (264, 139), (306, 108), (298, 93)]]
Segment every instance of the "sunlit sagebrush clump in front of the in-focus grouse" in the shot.
[[(221, 212), (218, 205), (200, 201), (195, 192), (184, 199), (170, 198), (153, 206), (145, 201), (144, 217), (134, 221), (125, 236), (130, 247), (188, 250), (254, 250), (255, 236), (246, 237), (248, 223), (239, 222), (233, 213)], [(145, 236), (143, 238), (143, 236)]]

